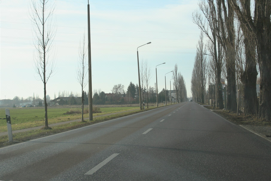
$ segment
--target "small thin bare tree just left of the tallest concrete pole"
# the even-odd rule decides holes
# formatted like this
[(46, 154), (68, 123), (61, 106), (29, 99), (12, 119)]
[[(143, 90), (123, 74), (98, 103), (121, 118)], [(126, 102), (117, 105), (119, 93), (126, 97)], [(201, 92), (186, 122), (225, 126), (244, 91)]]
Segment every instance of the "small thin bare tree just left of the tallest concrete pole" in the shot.
[[(83, 119), (83, 113), (84, 113), (84, 88), (87, 85), (88, 79), (85, 80), (85, 77), (88, 75), (88, 66), (87, 66), (87, 61), (86, 61), (86, 54), (87, 54), (87, 46), (86, 46), (86, 41), (85, 41), (85, 33), (82, 37), (82, 42), (80, 40), (79, 43), (79, 50), (78, 54), (80, 57), (80, 60), (77, 62), (77, 81), (81, 85), (81, 104), (82, 104), (82, 122), (84, 121)], [(84, 81), (85, 80), (85, 81)]]

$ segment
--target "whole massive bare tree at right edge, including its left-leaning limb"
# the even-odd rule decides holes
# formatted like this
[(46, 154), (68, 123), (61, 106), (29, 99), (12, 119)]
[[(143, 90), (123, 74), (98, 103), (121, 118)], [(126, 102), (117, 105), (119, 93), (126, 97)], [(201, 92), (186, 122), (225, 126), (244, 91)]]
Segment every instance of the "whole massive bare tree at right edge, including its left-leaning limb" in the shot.
[(254, 16), (250, 11), (249, 0), (229, 0), (246, 31), (256, 40), (260, 69), (260, 103), (258, 117), (271, 121), (271, 1), (255, 0)]

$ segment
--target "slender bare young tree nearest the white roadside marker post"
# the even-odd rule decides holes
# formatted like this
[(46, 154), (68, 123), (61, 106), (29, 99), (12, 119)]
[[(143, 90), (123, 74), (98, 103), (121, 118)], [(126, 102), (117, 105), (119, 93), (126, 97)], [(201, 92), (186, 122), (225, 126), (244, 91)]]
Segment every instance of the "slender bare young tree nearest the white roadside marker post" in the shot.
[[(52, 45), (56, 33), (56, 25), (53, 19), (55, 1), (32, 0), (30, 3), (30, 16), (34, 29), (34, 65), (38, 77), (44, 86), (45, 126), (48, 127), (46, 83), (54, 71), (55, 57), (51, 54)], [(52, 57), (51, 57), (52, 56)]]

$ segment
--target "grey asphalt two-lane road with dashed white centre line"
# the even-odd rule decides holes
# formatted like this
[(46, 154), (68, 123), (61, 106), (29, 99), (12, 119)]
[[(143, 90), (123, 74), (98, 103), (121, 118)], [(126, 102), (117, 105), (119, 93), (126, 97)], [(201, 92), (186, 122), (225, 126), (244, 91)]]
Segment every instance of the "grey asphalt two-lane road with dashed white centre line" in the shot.
[(183, 102), (0, 149), (0, 180), (271, 180), (271, 142)]

